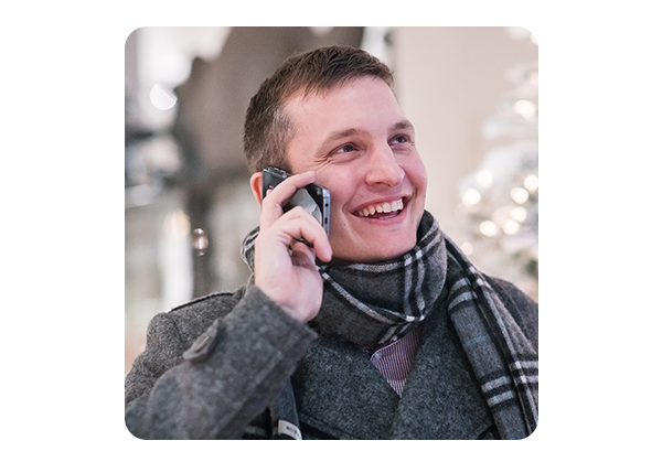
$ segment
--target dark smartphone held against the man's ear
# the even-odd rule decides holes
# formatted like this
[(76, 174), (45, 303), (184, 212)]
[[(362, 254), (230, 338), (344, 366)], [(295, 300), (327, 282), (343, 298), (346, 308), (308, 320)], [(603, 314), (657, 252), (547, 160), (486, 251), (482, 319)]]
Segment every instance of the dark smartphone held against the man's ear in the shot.
[[(269, 166), (263, 170), (263, 198), (265, 198), (267, 195), (267, 191), (276, 187), (278, 183), (288, 176), (291, 175), (286, 171), (275, 166)], [(331, 196), (329, 195), (329, 191), (322, 186), (311, 183), (298, 190), (292, 198), (285, 204), (282, 211), (287, 212), (297, 206), (302, 207), (306, 212), (312, 215), (320, 225), (322, 225), (328, 237), (330, 203)]]

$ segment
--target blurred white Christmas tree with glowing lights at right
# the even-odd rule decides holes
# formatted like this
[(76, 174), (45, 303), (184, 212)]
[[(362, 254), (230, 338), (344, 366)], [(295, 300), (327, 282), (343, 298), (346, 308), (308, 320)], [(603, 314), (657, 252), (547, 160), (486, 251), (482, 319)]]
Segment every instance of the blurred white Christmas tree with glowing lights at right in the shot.
[[(537, 46), (538, 28), (506, 28)], [(508, 143), (487, 152), (458, 184), (462, 250), (488, 275), (538, 299), (538, 63), (509, 69), (515, 88), (483, 123), (488, 139)]]

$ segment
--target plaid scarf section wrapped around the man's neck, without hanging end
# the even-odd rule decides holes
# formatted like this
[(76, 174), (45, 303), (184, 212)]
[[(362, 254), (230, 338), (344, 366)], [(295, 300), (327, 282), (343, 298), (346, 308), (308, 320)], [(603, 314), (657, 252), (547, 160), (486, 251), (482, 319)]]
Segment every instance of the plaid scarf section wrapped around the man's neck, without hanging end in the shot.
[[(416, 246), (394, 260), (319, 267), (322, 309), (311, 322), (322, 335), (374, 346), (403, 337), (429, 313), (446, 279), (444, 235), (430, 214)], [(350, 309), (348, 309), (350, 308)]]

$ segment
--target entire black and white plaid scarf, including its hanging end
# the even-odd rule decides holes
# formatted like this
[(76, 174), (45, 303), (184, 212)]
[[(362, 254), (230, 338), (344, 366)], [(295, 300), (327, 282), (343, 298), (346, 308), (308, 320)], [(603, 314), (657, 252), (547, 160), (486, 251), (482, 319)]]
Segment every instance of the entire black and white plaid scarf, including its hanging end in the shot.
[[(249, 233), (242, 246), (252, 270), (258, 233), (259, 228)], [(324, 296), (311, 327), (359, 345), (392, 342), (425, 320), (441, 299), (501, 438), (537, 440), (536, 351), (484, 277), (427, 211), (417, 238), (410, 251), (393, 260), (318, 267)]]

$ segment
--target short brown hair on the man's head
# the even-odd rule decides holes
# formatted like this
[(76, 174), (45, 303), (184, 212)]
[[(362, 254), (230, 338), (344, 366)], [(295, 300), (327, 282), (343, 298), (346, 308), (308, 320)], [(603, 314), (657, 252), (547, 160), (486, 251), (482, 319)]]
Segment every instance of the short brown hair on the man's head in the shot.
[(365, 75), (384, 80), (393, 90), (388, 66), (370, 53), (352, 46), (328, 46), (288, 57), (250, 98), (244, 122), (244, 153), (250, 173), (274, 165), (291, 171), (287, 143), (295, 127), (284, 105), (299, 90), (323, 94)]

